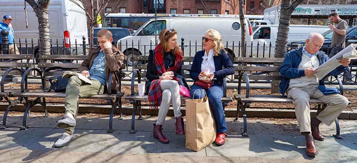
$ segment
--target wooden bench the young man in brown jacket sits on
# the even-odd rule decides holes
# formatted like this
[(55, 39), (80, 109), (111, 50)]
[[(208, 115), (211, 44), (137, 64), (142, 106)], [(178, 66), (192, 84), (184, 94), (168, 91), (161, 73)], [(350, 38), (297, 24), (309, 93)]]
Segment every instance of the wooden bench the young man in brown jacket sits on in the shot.
[[(36, 104), (40, 104), (45, 110), (45, 116), (49, 116), (46, 107), (46, 98), (65, 98), (65, 93), (58, 93), (54, 92), (51, 89), (45, 89), (45, 78), (50, 76), (61, 76), (64, 71), (71, 70), (74, 72), (79, 72), (79, 68), (81, 67), (81, 63), (78, 61), (83, 61), (88, 56), (81, 56), (81, 55), (40, 55), (39, 59), (45, 62), (38, 63), (38, 68), (30, 68), (24, 72), (21, 80), (21, 91), (14, 93), (14, 96), (20, 97), (25, 99), (27, 107), (24, 113), (24, 119), (22, 122), (21, 130), (25, 130), (26, 126), (26, 115), (27, 112)], [(51, 63), (46, 63), (50, 61)], [(53, 68), (55, 67), (55, 68)], [(54, 69), (51, 71), (47, 71), (49, 69)], [(123, 64), (122, 69), (125, 68)], [(28, 92), (27, 91), (27, 77), (32, 72), (35, 71), (41, 77), (41, 89), (42, 91), (35, 91), (35, 92)], [(43, 72), (43, 73), (42, 73)], [(111, 93), (111, 80), (112, 76), (115, 75), (116, 78), (119, 78), (119, 93), (112, 94)], [(122, 117), (121, 111), (121, 97), (124, 93), (121, 92), (121, 78), (122, 78), (122, 71), (111, 72), (109, 76), (109, 90), (108, 94), (102, 95), (94, 95), (87, 99), (101, 99), (101, 100), (109, 100), (111, 104), (110, 110), (110, 119), (109, 119), (109, 130), (108, 132), (112, 133), (114, 130), (112, 128), (113, 116), (114, 111), (118, 107), (120, 111), (120, 118)], [(34, 100), (29, 100), (29, 98), (35, 98)]]

